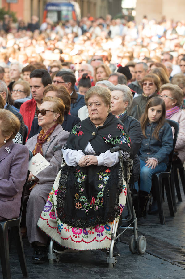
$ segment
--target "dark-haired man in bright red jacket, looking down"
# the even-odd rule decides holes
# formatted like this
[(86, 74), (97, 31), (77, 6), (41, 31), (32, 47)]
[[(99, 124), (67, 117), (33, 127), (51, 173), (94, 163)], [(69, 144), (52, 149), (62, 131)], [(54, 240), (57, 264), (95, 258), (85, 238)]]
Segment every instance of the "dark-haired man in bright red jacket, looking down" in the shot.
[(24, 123), (28, 126), (28, 134), (30, 133), (32, 121), (36, 115), (36, 109), (40, 108), (43, 98), (44, 87), (52, 83), (52, 79), (48, 71), (44, 69), (36, 69), (30, 73), (30, 89), (32, 99), (24, 102), (20, 107), (20, 113), (23, 116)]

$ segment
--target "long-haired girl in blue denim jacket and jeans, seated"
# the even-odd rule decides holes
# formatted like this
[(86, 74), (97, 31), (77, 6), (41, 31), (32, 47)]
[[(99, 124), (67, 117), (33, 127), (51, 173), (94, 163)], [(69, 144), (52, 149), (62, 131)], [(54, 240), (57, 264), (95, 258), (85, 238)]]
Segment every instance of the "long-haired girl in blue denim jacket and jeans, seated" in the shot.
[(152, 175), (165, 171), (168, 155), (173, 150), (171, 126), (165, 122), (165, 102), (159, 97), (151, 98), (141, 116), (143, 140), (138, 156), (140, 158), (140, 209), (146, 215), (146, 206), (152, 186)]

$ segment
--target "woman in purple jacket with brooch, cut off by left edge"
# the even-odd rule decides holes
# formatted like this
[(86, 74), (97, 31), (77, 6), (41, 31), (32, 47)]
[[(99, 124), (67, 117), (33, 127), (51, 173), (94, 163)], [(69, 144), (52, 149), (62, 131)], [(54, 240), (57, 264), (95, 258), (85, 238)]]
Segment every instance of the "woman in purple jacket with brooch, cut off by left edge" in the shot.
[(0, 220), (18, 218), (20, 213), (29, 151), (25, 145), (12, 141), (19, 129), (19, 119), (0, 109)]

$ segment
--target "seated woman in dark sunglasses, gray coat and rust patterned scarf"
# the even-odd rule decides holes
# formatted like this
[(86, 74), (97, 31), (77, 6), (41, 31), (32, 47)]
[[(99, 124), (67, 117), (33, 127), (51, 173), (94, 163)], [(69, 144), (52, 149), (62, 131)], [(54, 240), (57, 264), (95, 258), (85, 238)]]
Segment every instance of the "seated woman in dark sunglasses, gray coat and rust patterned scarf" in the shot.
[(60, 150), (54, 152), (53, 147), (59, 144), (63, 147), (69, 136), (69, 132), (63, 130), (61, 126), (64, 111), (65, 105), (60, 98), (44, 97), (40, 110), (36, 110), (42, 130), (26, 143), (33, 155), (40, 152), (50, 163), (37, 176), (30, 174), (28, 179), (32, 185), (27, 190), (26, 226), (28, 240), (34, 248), (33, 263), (43, 263), (47, 259), (48, 237), (36, 224), (61, 166), (61, 152)]

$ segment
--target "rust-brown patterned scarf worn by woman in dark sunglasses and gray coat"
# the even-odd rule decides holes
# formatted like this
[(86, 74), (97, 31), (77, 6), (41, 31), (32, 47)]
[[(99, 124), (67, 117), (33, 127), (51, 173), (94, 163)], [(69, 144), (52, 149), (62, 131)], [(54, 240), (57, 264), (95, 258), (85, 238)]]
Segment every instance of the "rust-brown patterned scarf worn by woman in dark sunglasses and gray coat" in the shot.
[[(55, 127), (57, 127), (58, 123), (56, 123), (55, 125), (53, 125), (50, 129), (48, 129), (48, 131), (44, 134), (44, 129), (42, 129), (39, 133), (39, 135), (37, 136), (37, 143), (35, 145), (35, 148), (33, 150), (33, 156), (36, 155), (37, 153), (40, 152), (41, 155), (43, 155), (42, 153), (42, 144), (48, 139), (48, 137), (53, 133), (53, 131), (55, 130)], [(32, 188), (37, 184), (37, 182), (35, 182), (33, 184), (33, 186), (31, 188), (29, 188), (29, 190), (32, 190)]]

